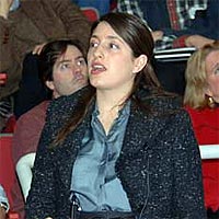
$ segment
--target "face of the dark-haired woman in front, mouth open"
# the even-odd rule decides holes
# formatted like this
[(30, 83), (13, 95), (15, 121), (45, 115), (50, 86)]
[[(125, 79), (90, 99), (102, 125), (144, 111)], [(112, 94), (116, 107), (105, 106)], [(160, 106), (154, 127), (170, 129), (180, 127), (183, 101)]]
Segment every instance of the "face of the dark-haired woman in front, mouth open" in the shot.
[(91, 84), (97, 90), (129, 91), (138, 72), (137, 59), (111, 25), (101, 22), (91, 36), (88, 53)]

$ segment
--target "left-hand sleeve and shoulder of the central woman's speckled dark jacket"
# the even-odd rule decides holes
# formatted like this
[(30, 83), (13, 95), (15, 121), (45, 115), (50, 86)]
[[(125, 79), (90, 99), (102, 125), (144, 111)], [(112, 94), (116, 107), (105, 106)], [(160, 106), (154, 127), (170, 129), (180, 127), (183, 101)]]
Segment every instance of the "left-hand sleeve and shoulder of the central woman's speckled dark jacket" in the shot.
[(53, 149), (50, 146), (57, 132), (69, 119), (78, 95), (82, 95), (81, 91), (69, 96), (60, 96), (53, 100), (47, 108), (46, 123), (36, 151), (31, 191), (26, 199), (26, 219), (43, 219), (46, 217), (59, 219), (60, 210), (69, 204), (67, 203), (69, 201), (68, 197), (62, 197), (66, 203), (61, 203), (61, 205), (66, 205), (65, 207), (59, 205), (61, 200), (58, 199), (60, 198), (60, 175), (57, 163), (60, 160), (57, 160), (57, 154), (60, 153), (57, 151), (61, 146), (56, 146)]

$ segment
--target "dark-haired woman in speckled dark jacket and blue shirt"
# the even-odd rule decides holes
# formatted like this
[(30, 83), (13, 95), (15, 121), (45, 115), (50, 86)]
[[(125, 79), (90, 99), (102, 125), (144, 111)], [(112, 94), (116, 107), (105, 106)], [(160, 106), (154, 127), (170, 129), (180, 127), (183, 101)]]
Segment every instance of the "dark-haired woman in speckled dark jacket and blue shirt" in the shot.
[(48, 110), (27, 218), (205, 218), (197, 142), (177, 100), (159, 91), (152, 51), (132, 15), (94, 23), (92, 87)]

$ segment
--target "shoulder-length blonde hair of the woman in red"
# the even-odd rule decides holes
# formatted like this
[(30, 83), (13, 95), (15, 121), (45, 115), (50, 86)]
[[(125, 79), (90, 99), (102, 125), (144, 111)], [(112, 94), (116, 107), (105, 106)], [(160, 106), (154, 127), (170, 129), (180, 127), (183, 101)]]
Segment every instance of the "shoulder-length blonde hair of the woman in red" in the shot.
[(184, 104), (193, 108), (209, 107), (209, 97), (206, 95), (207, 72), (206, 57), (214, 50), (219, 50), (219, 41), (208, 44), (195, 51), (187, 61), (185, 71), (186, 88)]

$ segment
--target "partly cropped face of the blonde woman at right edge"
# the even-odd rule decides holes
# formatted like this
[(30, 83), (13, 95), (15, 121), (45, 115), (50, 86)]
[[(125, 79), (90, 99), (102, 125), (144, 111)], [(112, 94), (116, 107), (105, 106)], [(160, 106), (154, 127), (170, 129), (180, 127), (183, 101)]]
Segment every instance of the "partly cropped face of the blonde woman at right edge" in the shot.
[(206, 57), (207, 95), (219, 103), (219, 50), (211, 51)]

